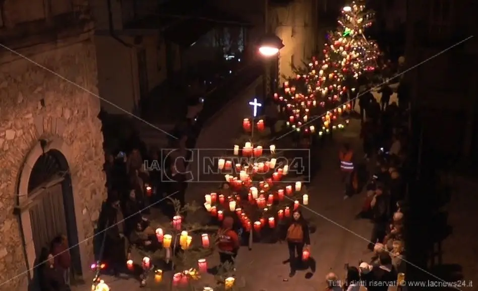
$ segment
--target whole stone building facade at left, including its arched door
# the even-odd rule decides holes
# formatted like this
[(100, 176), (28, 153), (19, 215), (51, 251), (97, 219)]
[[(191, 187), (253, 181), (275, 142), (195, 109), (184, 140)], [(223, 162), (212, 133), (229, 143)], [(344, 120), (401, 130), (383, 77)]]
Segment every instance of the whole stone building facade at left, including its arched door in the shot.
[[(16, 17), (8, 30), (28, 21), (4, 15)], [(93, 260), (106, 191), (93, 26), (83, 24), (56, 30), (55, 42), (2, 41), (9, 44), (0, 48), (2, 290), (27, 290), (41, 248), (58, 234), (73, 247), (75, 274), (87, 275)]]

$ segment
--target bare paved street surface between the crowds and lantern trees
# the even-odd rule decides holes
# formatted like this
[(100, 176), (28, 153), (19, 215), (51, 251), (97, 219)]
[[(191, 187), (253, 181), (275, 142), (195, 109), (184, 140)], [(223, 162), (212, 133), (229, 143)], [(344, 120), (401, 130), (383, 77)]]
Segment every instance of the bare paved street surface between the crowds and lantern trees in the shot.
[[(235, 139), (241, 133), (242, 120), (251, 114), (252, 108), (248, 103), (253, 99), (256, 86), (257, 84), (250, 86), (240, 93), (241, 96), (226, 105), (203, 128), (196, 147), (200, 151), (195, 150), (195, 159), (190, 167), (196, 178), (188, 187), (189, 202), (203, 203), (204, 194), (217, 189), (222, 181), (223, 175), (202, 173), (203, 159), (207, 156), (220, 156), (226, 149), (232, 149)], [(338, 149), (342, 142), (350, 143), (356, 155), (362, 157), (359, 132), (360, 121), (352, 119), (343, 131), (334, 134), (333, 141), (327, 142), (324, 148), (319, 149), (320, 170), (307, 185), (310, 202), (308, 206), (303, 206), (303, 213), (313, 229), (316, 229), (311, 234), (311, 256), (315, 261), (312, 277), (309, 274), (308, 278), (305, 278), (310, 270), (298, 271), (294, 277), (288, 277), (289, 266), (282, 264), (288, 256), (284, 243), (256, 243), (252, 250), (242, 247), (237, 256), (238, 287), (250, 291), (322, 289), (325, 287), (327, 272), (333, 271), (343, 277), (345, 263), (357, 265), (360, 259), (370, 259), (371, 253), (366, 246), (372, 225), (365, 220), (355, 220), (355, 214), (360, 212), (365, 196), (357, 194), (350, 199), (343, 199), (338, 167)], [(284, 137), (286, 138), (289, 137)], [(206, 223), (210, 219), (205, 210), (191, 214), (188, 220), (194, 222)], [(164, 222), (165, 217), (157, 217), (156, 214), (152, 216), (155, 220)], [(214, 266), (218, 261), (217, 254), (214, 254), (208, 258), (208, 265)], [(127, 286), (130, 290), (139, 289), (139, 282), (133, 278), (116, 279), (104, 276), (104, 279), (113, 289), (125, 289)], [(204, 275), (202, 282), (204, 285), (215, 285), (214, 277), (210, 274)], [(155, 286), (148, 284), (147, 288), (154, 290)], [(78, 290), (83, 291), (81, 288)]]

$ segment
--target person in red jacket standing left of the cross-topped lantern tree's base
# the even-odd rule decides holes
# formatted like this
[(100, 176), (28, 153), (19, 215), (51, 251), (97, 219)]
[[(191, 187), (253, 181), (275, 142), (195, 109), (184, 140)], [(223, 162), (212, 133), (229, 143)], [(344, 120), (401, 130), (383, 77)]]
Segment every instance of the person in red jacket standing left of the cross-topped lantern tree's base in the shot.
[(232, 217), (227, 216), (222, 222), (222, 227), (219, 229), (218, 244), (219, 249), (219, 260), (221, 262), (221, 267), (224, 264), (228, 263), (232, 268), (234, 267), (234, 260), (237, 256), (237, 251), (239, 250), (239, 236), (233, 230), (234, 220)]

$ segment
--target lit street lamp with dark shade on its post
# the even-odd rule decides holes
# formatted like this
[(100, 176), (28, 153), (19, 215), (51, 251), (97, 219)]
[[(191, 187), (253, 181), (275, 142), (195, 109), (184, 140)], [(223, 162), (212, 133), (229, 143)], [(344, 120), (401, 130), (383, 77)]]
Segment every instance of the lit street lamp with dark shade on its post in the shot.
[(275, 57), (277, 62), (277, 54), (283, 47), (282, 40), (275, 34), (265, 34), (259, 43), (259, 53), (264, 57), (264, 80), (262, 82), (264, 99), (270, 95), (271, 91), (270, 61)]

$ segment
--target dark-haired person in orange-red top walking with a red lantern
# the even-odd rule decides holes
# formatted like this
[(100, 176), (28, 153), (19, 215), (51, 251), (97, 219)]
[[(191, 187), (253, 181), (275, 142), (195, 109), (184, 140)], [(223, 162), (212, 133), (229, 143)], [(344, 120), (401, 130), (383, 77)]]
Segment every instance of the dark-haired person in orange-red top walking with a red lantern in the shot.
[[(287, 228), (286, 240), (289, 258), (283, 263), (288, 262), (290, 264), (289, 277), (292, 277), (295, 275), (298, 263), (302, 262), (304, 248), (308, 249), (311, 244), (309, 226), (299, 210), (295, 210), (292, 214), (292, 221)], [(295, 253), (297, 253), (298, 260), (296, 260)]]

